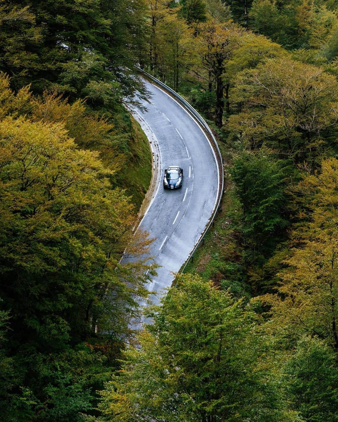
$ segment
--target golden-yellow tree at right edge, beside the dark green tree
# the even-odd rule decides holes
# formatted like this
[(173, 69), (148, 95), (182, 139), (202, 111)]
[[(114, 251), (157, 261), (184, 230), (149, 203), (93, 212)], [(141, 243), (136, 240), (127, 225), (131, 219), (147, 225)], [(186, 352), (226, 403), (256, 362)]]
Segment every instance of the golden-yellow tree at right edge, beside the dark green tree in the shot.
[[(295, 193), (300, 197), (300, 223), (291, 241), (294, 247), (279, 273), (278, 295), (272, 305), (274, 330), (290, 339), (315, 335), (338, 349), (338, 160), (322, 162), (321, 172), (306, 175)], [(275, 331), (276, 332), (276, 331)]]

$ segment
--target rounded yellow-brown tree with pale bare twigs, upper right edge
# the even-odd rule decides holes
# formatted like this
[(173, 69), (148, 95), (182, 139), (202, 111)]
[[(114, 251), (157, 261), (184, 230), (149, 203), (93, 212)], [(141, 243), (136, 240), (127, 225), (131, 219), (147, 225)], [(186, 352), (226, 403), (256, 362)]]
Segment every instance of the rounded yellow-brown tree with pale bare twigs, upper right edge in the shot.
[(228, 127), (251, 148), (265, 143), (281, 157), (312, 163), (335, 147), (338, 83), (321, 68), (268, 59), (243, 71), (235, 90), (241, 112)]

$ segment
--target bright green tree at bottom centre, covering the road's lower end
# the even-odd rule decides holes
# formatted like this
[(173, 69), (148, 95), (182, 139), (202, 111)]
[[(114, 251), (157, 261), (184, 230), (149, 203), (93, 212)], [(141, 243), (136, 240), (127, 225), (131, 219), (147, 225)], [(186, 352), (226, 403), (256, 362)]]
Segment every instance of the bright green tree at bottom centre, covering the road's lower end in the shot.
[(242, 300), (180, 276), (102, 392), (98, 420), (278, 420), (256, 324)]

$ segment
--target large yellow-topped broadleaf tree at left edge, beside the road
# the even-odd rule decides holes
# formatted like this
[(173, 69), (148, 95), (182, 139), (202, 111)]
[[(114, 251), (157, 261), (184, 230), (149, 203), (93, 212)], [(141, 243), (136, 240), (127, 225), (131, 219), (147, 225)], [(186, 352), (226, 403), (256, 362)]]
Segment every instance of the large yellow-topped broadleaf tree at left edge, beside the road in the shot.
[[(37, 336), (47, 338), (53, 326), (62, 326), (51, 344), (70, 335), (86, 338), (100, 327), (126, 334), (130, 310), (147, 295), (149, 266), (119, 261), (127, 246), (138, 257), (150, 243), (146, 234), (133, 233), (130, 197), (111, 187), (114, 172), (97, 151), (79, 149), (69, 137), (68, 117), (71, 110), (81, 115), (81, 104), (72, 109), (45, 97), (46, 107), (30, 98), (30, 120), (28, 90), (14, 95), (4, 75), (0, 86), (0, 297)], [(56, 118), (60, 108), (70, 111)], [(88, 127), (92, 118), (81, 121)], [(105, 122), (96, 125), (105, 127), (102, 133), (109, 130)]]

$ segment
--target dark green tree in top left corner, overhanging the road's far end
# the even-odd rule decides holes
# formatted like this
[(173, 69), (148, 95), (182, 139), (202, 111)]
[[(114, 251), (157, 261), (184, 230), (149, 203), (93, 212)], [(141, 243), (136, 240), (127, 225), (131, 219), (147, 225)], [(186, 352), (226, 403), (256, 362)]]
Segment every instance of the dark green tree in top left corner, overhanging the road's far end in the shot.
[(13, 75), (15, 87), (31, 83), (42, 92), (57, 84), (72, 99), (89, 96), (99, 106), (104, 96), (131, 100), (142, 90), (133, 69), (145, 32), (142, 0), (35, 1), (25, 8), (17, 1), (2, 14), (0, 69)]

